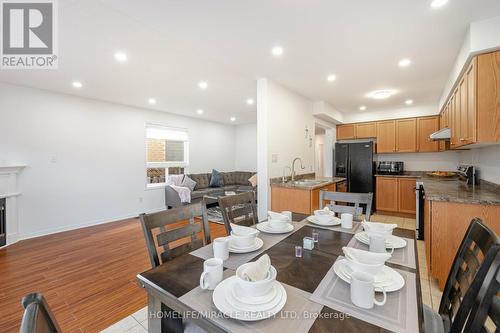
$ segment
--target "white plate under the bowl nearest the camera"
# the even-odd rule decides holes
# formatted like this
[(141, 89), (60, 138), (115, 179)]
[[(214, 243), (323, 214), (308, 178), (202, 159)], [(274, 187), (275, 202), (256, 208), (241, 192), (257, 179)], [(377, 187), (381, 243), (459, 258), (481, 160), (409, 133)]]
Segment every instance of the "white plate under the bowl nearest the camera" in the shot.
[[(237, 319), (237, 320), (243, 320), (243, 321), (257, 321), (257, 320), (262, 320), (266, 319), (269, 317), (274, 316), (278, 312), (283, 309), (283, 307), (286, 304), (286, 290), (285, 288), (281, 285), (281, 283), (277, 282), (277, 287), (278, 287), (278, 293), (281, 294), (281, 298), (278, 302), (278, 304), (266, 311), (241, 311), (236, 308), (234, 308), (226, 299), (226, 294), (227, 290), (233, 288), (233, 284), (236, 282), (237, 277), (232, 276), (230, 278), (225, 279), (217, 287), (215, 288), (213, 295), (212, 295), (212, 300), (214, 302), (215, 307), (221, 311), (224, 315)], [(277, 295), (279, 297), (279, 295)]]

